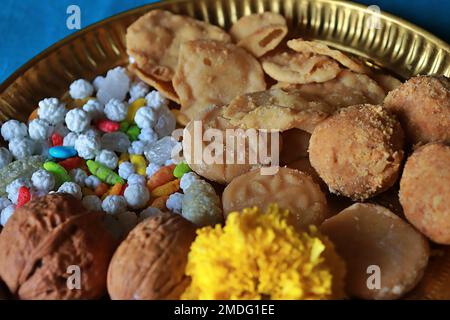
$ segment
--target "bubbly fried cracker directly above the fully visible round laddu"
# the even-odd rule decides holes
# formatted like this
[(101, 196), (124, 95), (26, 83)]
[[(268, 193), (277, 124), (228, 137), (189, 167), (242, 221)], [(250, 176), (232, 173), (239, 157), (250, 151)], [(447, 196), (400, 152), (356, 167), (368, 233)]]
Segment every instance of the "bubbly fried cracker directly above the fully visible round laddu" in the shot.
[(276, 88), (295, 89), (305, 99), (327, 103), (334, 111), (356, 104), (382, 104), (386, 93), (365, 74), (342, 70), (338, 76), (323, 83), (287, 84), (280, 82)]

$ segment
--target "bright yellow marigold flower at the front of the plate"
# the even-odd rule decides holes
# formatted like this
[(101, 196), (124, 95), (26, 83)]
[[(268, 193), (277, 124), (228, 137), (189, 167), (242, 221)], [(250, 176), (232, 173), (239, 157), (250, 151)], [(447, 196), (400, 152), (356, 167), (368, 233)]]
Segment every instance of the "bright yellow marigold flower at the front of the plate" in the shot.
[(288, 214), (246, 208), (198, 230), (182, 299), (342, 298), (345, 266), (333, 245), (315, 227), (296, 232)]

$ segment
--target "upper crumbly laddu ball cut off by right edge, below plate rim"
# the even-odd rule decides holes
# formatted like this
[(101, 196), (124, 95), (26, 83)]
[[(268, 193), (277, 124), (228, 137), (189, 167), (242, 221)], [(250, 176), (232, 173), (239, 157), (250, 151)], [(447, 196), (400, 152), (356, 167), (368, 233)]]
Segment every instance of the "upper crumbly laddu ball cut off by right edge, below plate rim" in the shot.
[(385, 107), (394, 112), (413, 143), (450, 143), (450, 79), (417, 76), (389, 92)]

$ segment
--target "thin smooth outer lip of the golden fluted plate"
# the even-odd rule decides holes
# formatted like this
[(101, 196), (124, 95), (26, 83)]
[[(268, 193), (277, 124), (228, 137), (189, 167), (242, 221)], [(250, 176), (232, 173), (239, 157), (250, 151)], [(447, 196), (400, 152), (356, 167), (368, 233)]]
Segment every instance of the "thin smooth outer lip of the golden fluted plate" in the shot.
[[(92, 29), (95, 29), (102, 24), (110, 23), (111, 21), (113, 21), (115, 19), (119, 19), (123, 16), (133, 15), (136, 11), (141, 11), (143, 8), (152, 10), (152, 9), (156, 9), (156, 8), (163, 6), (165, 4), (168, 4), (168, 3), (175, 4), (175, 3), (190, 2), (190, 1), (192, 1), (192, 0), (160, 0), (158, 2), (144, 4), (144, 5), (138, 6), (136, 8), (122, 11), (122, 12), (116, 13), (112, 16), (109, 16), (107, 18), (101, 19), (97, 22), (94, 22), (94, 23), (86, 26), (85, 28), (78, 30), (78, 31), (62, 38), (61, 40), (58, 40), (57, 42), (55, 42), (51, 46), (47, 47), (46, 49), (44, 49), (43, 51), (41, 51), (34, 57), (30, 58), (28, 61), (26, 61), (20, 67), (18, 67), (3, 82), (0, 83), (0, 94), (3, 94), (5, 92), (5, 90), (11, 84), (14, 83), (14, 81), (16, 81), (22, 74), (26, 73), (27, 70), (30, 69), (33, 65), (35, 65), (36, 63), (38, 63), (39, 61), (41, 61), (42, 59), (44, 59), (45, 57), (47, 57), (48, 55), (50, 55), (51, 53), (56, 51), (58, 48), (62, 47), (63, 45), (69, 43), (70, 41), (80, 37), (81, 35), (83, 35), (87, 32), (90, 32)], [(363, 4), (355, 3), (353, 1), (348, 1), (348, 0), (340, 0), (340, 1), (336, 1), (336, 0), (306, 0), (306, 1), (321, 2), (321, 3), (327, 3), (327, 4), (338, 3), (338, 5), (345, 6), (350, 9), (358, 9), (358, 10), (366, 10), (367, 9), (367, 6), (365, 6)], [(450, 44), (448, 44), (447, 42), (445, 42), (438, 36), (434, 35), (433, 33), (423, 29), (422, 27), (419, 27), (416, 24), (407, 21), (406, 19), (400, 18), (394, 14), (391, 14), (391, 13), (388, 13), (388, 12), (385, 12), (382, 10), (380, 12), (380, 16), (390, 22), (395, 22), (395, 23), (399, 24), (401, 27), (409, 29), (409, 30), (419, 34), (420, 36), (426, 38), (428, 41), (434, 42), (436, 44), (436, 46), (441, 47), (450, 53)]]

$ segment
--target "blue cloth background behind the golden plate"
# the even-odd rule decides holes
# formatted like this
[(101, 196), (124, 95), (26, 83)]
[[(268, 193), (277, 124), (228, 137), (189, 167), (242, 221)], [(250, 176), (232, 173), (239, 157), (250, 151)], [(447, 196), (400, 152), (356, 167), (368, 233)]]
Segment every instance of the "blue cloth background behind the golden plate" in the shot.
[[(74, 32), (67, 7), (81, 8), (81, 27), (157, 0), (0, 0), (0, 82), (33, 56)], [(354, 0), (378, 5), (450, 42), (449, 0)]]

